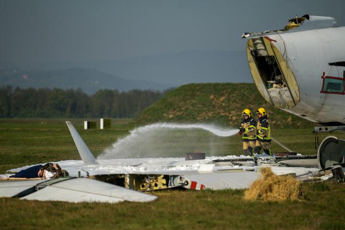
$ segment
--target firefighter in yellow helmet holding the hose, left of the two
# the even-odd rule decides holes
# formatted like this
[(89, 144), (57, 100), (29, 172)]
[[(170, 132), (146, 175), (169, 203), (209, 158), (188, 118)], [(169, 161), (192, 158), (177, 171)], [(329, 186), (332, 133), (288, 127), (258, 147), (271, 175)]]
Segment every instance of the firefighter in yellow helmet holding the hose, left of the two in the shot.
[(248, 108), (243, 110), (242, 116), (239, 135), (242, 135), (243, 150), (247, 156), (253, 156), (256, 141), (256, 121), (252, 118), (252, 112)]

